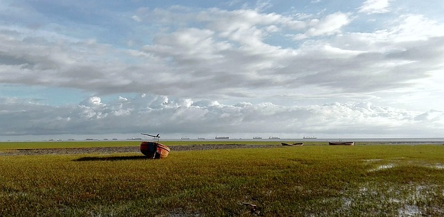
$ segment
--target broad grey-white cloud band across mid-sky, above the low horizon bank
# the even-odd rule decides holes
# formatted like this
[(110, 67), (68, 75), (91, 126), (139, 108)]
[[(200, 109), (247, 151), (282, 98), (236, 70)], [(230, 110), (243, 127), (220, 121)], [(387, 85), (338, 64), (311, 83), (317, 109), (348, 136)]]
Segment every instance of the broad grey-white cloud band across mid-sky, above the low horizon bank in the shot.
[[(400, 16), (373, 33), (341, 33), (355, 19), (343, 12), (298, 20), (256, 10), (176, 7), (141, 8), (137, 17), (185, 26), (159, 31), (139, 49), (1, 26), (0, 82), (185, 98), (257, 97), (266, 89), (286, 94), (306, 86), (322, 96), (398, 89), (442, 69), (443, 25), (421, 15)], [(281, 31), (304, 30), (307, 38), (332, 37), (300, 46), (267, 43)]]

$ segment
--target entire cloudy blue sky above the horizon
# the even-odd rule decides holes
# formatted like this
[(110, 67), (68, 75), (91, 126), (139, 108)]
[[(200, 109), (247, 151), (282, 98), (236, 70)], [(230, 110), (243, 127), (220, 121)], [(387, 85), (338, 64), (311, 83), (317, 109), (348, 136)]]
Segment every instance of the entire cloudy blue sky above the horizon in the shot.
[(444, 1), (0, 1), (0, 141), (444, 137)]

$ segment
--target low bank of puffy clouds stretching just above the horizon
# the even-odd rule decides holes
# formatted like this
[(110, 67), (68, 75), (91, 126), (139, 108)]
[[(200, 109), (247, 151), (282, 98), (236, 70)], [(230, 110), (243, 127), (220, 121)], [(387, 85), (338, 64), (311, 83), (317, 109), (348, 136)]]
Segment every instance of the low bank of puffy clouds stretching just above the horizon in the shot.
[(0, 111), (0, 119), (10, 123), (0, 125), (3, 136), (92, 132), (214, 135), (236, 132), (239, 135), (260, 133), (292, 137), (303, 134), (425, 137), (430, 135), (428, 130), (431, 130), (431, 124), (434, 132), (444, 132), (442, 112), (421, 114), (368, 102), (307, 106), (248, 102), (223, 105), (216, 101), (140, 94), (134, 98), (119, 97), (106, 103), (99, 96), (91, 96), (79, 105), (62, 107), (3, 98)]

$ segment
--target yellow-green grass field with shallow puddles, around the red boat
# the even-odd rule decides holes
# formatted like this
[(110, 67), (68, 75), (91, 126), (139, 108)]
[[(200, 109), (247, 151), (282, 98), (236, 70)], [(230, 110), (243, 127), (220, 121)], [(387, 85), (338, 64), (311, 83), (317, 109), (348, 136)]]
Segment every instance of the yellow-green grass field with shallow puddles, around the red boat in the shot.
[(0, 156), (0, 216), (444, 216), (442, 153), (443, 145), (358, 145), (182, 151), (161, 160)]

